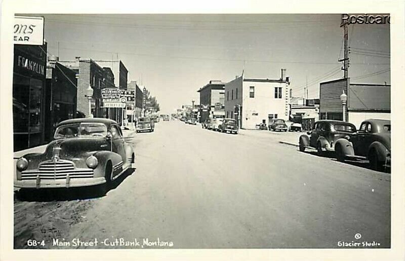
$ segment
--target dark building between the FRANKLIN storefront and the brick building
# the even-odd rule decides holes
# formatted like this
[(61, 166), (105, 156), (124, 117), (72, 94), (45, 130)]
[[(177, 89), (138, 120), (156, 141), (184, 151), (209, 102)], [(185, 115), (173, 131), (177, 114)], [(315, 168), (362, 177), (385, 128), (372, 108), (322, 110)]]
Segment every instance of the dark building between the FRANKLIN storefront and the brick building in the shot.
[(49, 57), (46, 80), (45, 140), (53, 138), (56, 125), (75, 118), (77, 103), (76, 72)]

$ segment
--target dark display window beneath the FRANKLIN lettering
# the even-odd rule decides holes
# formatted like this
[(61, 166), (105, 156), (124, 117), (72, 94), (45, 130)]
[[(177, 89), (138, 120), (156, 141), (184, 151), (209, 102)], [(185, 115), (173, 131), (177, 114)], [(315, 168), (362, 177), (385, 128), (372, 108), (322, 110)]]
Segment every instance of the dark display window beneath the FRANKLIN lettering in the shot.
[(13, 85), (14, 132), (40, 132), (43, 82), (14, 74)]

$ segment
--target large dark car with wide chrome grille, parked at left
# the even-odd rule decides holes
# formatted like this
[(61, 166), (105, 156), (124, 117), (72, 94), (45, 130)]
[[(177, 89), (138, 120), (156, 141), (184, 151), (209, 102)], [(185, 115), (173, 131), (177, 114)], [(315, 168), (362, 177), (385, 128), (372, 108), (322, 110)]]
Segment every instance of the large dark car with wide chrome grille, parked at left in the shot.
[(101, 193), (131, 168), (135, 150), (119, 125), (109, 119), (84, 118), (60, 122), (44, 153), (30, 153), (16, 163), (14, 187), (72, 188), (98, 185)]

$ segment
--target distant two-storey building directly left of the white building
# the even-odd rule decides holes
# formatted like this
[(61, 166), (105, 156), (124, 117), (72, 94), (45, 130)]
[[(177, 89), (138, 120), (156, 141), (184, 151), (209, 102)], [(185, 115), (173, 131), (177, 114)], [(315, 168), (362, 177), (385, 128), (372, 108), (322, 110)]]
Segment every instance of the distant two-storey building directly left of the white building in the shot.
[(199, 121), (204, 122), (208, 117), (225, 117), (225, 83), (219, 80), (211, 80), (199, 93)]

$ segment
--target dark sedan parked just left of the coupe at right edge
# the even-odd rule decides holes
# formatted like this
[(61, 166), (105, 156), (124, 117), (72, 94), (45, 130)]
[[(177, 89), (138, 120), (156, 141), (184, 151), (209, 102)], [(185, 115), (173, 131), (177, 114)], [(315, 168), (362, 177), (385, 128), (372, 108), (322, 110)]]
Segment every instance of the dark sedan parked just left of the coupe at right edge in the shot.
[(338, 139), (356, 132), (356, 127), (348, 122), (335, 120), (321, 120), (314, 124), (313, 130), (308, 131), (299, 138), (300, 151), (305, 148), (315, 148), (319, 156), (325, 151), (335, 151), (335, 143)]

